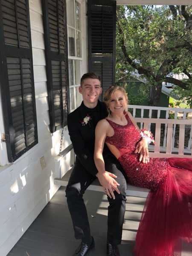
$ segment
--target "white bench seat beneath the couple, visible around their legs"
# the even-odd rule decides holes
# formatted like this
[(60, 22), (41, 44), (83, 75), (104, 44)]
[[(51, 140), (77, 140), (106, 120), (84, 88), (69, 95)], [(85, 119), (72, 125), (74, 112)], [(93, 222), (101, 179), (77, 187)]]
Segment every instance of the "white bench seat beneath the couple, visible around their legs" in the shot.
[[(55, 178), (54, 184), (60, 185), (60, 186), (67, 186), (67, 183), (69, 181), (69, 177), (71, 175), (72, 170), (73, 170), (73, 168), (71, 168), (61, 179)], [(93, 183), (91, 183), (91, 185), (87, 189), (103, 192), (103, 188), (100, 185), (98, 179), (94, 180)], [(127, 184), (126, 194), (128, 196), (137, 196), (137, 197), (146, 198), (149, 191), (150, 191), (149, 189), (131, 186), (131, 185)]]

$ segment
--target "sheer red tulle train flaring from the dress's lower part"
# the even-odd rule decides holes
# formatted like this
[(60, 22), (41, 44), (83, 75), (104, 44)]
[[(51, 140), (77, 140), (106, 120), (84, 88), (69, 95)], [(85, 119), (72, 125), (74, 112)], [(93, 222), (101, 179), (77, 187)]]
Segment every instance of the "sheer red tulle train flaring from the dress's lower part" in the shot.
[[(185, 168), (185, 169), (184, 169)], [(169, 158), (168, 174), (150, 192), (137, 232), (136, 256), (180, 256), (192, 242), (192, 159)]]

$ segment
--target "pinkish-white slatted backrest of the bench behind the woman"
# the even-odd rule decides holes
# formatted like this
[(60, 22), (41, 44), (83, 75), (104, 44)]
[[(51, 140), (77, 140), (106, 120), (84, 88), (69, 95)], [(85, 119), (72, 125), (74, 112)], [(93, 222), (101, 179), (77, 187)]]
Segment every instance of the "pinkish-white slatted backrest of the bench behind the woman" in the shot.
[[(144, 129), (148, 129), (151, 123), (155, 124), (155, 145), (150, 149), (151, 157), (192, 157), (192, 148), (184, 152), (185, 126), (192, 125), (192, 120), (187, 119), (156, 119), (156, 118), (135, 118), (136, 122), (142, 123)], [(167, 126), (166, 147), (160, 147), (161, 125)], [(178, 150), (173, 150), (173, 131), (174, 125), (179, 125), (179, 143)], [(190, 134), (190, 140), (192, 135)]]

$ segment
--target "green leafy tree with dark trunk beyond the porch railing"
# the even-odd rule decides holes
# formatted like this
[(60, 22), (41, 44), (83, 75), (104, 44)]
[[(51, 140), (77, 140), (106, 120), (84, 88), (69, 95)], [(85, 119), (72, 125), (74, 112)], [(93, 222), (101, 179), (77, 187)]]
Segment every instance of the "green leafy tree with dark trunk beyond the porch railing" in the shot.
[(135, 71), (151, 86), (150, 105), (158, 106), (163, 81), (192, 103), (192, 6), (117, 6), (116, 81)]

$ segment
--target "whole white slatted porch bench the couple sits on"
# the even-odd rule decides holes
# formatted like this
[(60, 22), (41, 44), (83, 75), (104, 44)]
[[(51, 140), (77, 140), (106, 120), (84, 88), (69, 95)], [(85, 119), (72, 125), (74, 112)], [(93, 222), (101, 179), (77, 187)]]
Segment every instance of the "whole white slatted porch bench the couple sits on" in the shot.
[[(192, 125), (192, 120), (186, 119), (157, 119), (157, 118), (135, 118), (137, 123), (142, 123), (141, 128), (148, 129), (151, 127), (151, 123), (155, 124), (155, 145), (153, 148), (150, 148), (150, 157), (192, 157), (192, 149), (187, 153), (184, 152), (184, 139), (185, 139), (185, 126)], [(161, 126), (166, 125), (167, 132), (166, 132), (166, 147), (160, 147), (160, 138), (161, 136)], [(178, 143), (178, 150), (177, 152), (173, 151), (172, 148), (172, 140), (173, 140), (173, 130), (174, 125), (179, 125), (179, 143)], [(191, 134), (190, 134), (191, 139)], [(66, 148), (62, 153), (61, 157), (67, 154), (72, 149), (72, 145)], [(176, 154), (175, 154), (176, 153)], [(61, 161), (61, 159), (60, 159)], [(67, 186), (69, 177), (70, 177), (71, 170), (68, 171), (63, 177), (55, 178), (54, 184), (60, 186)], [(88, 187), (90, 190), (94, 191), (101, 191), (103, 192), (102, 186), (99, 185), (99, 181), (96, 179), (93, 183)], [(129, 196), (139, 196), (146, 198), (148, 195), (149, 189), (140, 188), (131, 186), (128, 184), (128, 188), (126, 194)]]

